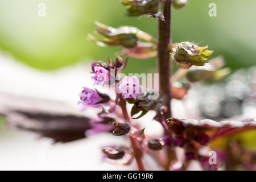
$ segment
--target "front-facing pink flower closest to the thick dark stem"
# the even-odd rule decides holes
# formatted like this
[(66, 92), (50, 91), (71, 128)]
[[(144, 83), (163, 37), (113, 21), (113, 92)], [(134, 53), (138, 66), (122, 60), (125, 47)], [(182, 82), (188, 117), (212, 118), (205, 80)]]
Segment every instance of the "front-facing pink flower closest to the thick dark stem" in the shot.
[(136, 99), (139, 94), (142, 92), (142, 86), (139, 85), (139, 80), (137, 77), (126, 76), (123, 78), (122, 84), (119, 86), (123, 97), (125, 98), (134, 98)]

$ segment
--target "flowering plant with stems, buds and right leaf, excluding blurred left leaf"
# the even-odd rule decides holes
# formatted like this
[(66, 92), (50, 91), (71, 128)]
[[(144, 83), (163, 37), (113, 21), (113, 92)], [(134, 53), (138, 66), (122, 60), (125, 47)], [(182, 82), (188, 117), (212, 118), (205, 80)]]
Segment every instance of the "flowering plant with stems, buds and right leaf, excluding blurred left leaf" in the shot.
[[(223, 57), (218, 56), (212, 60), (209, 57), (213, 51), (208, 46), (200, 47), (193, 42), (172, 43), (171, 38), (171, 7), (182, 9), (187, 5), (187, 0), (122, 0), (127, 7), (128, 16), (148, 15), (148, 20), (158, 18), (158, 39), (139, 30), (136, 27), (122, 26), (113, 28), (96, 22), (96, 34), (102, 38), (89, 35), (89, 39), (99, 46), (121, 46), (123, 50), (119, 55), (127, 55), (126, 60), (118, 56), (115, 61), (109, 59), (109, 63), (98, 61), (92, 64), (92, 79), (97, 85), (114, 87), (116, 93), (112, 100), (110, 97), (97, 90), (84, 88), (81, 92), (79, 103), (89, 106), (102, 107), (99, 125), (111, 125), (109, 131), (115, 136), (129, 138), (130, 147), (108, 146), (102, 148), (105, 156), (111, 160), (123, 161), (129, 164), (134, 158), (139, 170), (146, 170), (147, 166), (143, 156), (147, 152), (166, 170), (185, 170), (192, 160), (197, 160), (205, 170), (217, 170), (220, 167), (232, 168), (235, 159), (230, 151), (234, 147), (240, 148), (237, 158), (245, 155), (239, 143), (231, 142), (226, 151), (216, 152), (216, 162), (210, 162), (210, 156), (201, 154), (200, 148), (211, 146), (214, 140), (226, 137), (247, 129), (255, 129), (255, 119), (245, 121), (213, 121), (203, 119), (178, 119), (172, 117), (171, 100), (181, 100), (189, 89), (188, 84), (182, 83), (187, 77), (189, 82), (202, 80), (218, 80), (229, 74), (224, 66)], [(137, 77), (126, 76), (122, 80), (115, 79), (117, 73), (125, 69), (128, 57), (147, 59), (157, 56), (159, 73), (159, 96), (151, 99), (152, 92), (142, 92), (142, 86)], [(172, 64), (177, 64), (179, 70), (172, 75)], [(206, 65), (208, 64), (208, 65)], [(191, 68), (191, 69), (189, 69)], [(110, 71), (114, 70), (114, 74)], [(179, 82), (176, 86), (177, 82)], [(156, 90), (154, 90), (156, 92)], [(207, 94), (207, 93), (205, 93)], [(108, 105), (109, 109), (106, 109)], [(132, 105), (131, 109), (127, 105)], [(121, 112), (119, 111), (121, 110)], [(155, 111), (154, 120), (158, 121), (164, 129), (164, 135), (160, 138), (145, 136), (136, 119), (144, 117), (149, 111)], [(115, 115), (115, 117), (110, 117)], [(137, 117), (134, 117), (137, 115)], [(150, 122), (150, 121), (148, 121)], [(95, 124), (95, 123), (94, 123)], [(176, 157), (176, 148), (183, 148), (183, 159)], [(250, 152), (249, 152), (250, 153)], [(129, 155), (129, 160), (121, 160)], [(220, 156), (224, 157), (220, 157)], [(255, 167), (255, 154), (250, 153), (249, 159), (239, 159), (239, 164), (247, 167)], [(159, 156), (162, 156), (159, 157)]]

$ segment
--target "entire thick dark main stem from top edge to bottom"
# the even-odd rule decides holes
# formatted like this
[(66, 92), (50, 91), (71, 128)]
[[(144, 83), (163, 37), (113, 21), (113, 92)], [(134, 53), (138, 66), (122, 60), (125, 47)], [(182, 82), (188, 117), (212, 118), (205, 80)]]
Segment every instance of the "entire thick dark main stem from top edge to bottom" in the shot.
[[(167, 110), (164, 111), (164, 121), (162, 125), (166, 131), (166, 134), (172, 140), (172, 135), (168, 126), (166, 125), (166, 119), (172, 117), (171, 113), (171, 76), (172, 76), (172, 61), (170, 59), (170, 46), (171, 40), (171, 0), (166, 0), (164, 5), (164, 21), (158, 19), (158, 73), (159, 73), (159, 94), (163, 98), (163, 104)], [(167, 148), (168, 160), (164, 165), (166, 170), (170, 169), (172, 160), (176, 158), (174, 148)]]

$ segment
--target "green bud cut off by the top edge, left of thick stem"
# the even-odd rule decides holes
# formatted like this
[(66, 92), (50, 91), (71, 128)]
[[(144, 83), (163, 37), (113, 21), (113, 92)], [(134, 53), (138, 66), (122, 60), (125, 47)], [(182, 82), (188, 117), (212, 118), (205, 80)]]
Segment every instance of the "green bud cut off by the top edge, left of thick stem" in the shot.
[(154, 15), (159, 10), (158, 0), (122, 0), (122, 4), (128, 8), (129, 16)]

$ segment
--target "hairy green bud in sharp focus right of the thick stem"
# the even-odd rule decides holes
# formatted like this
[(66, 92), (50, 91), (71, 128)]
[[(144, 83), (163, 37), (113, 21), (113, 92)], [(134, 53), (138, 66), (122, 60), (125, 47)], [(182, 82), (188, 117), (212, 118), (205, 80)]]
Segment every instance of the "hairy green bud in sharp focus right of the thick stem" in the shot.
[(188, 69), (192, 65), (203, 66), (208, 63), (207, 59), (213, 53), (207, 48), (208, 46), (199, 47), (191, 42), (181, 42), (171, 57), (181, 68)]

